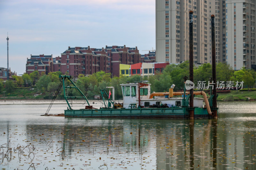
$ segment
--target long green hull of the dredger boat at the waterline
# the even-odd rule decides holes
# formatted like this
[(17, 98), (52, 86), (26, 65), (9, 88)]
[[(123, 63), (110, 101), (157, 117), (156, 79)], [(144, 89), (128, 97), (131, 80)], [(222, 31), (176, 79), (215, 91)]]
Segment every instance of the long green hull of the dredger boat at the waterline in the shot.
[[(206, 108), (195, 107), (195, 118), (212, 118)], [(65, 110), (65, 117), (188, 119), (189, 107)]]

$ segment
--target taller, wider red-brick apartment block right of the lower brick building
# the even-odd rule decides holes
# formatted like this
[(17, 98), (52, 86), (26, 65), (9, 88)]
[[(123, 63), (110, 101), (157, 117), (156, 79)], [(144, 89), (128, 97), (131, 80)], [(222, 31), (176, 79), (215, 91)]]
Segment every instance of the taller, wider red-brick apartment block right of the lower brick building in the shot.
[(140, 63), (137, 47), (106, 46), (106, 48), (75, 47), (61, 54), (61, 72), (77, 78), (79, 74), (90, 75), (97, 71), (119, 76), (119, 64)]

